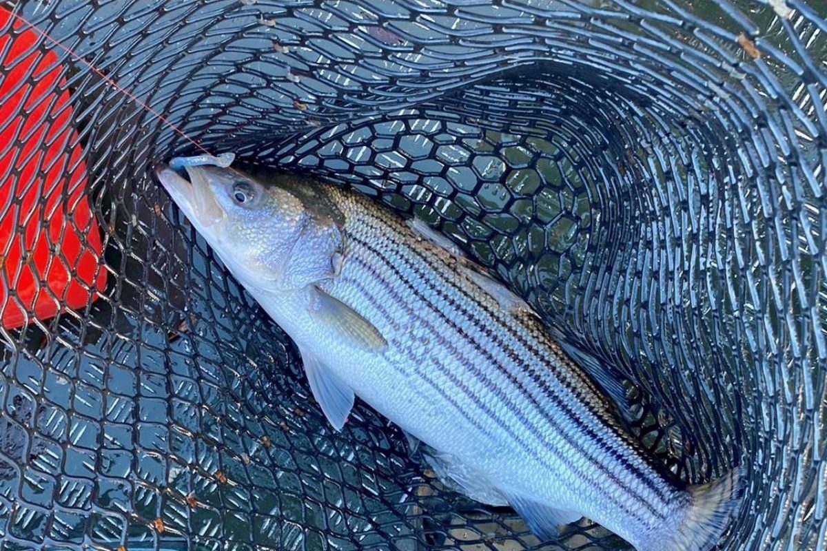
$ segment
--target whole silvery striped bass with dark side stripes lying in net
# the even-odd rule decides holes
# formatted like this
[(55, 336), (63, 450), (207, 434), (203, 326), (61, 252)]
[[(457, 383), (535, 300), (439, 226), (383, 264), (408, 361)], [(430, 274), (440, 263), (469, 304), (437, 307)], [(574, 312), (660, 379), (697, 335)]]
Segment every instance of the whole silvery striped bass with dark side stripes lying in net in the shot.
[(336, 430), (360, 397), (437, 450), (442, 475), (512, 506), (541, 539), (586, 516), (638, 551), (719, 542), (739, 471), (687, 487), (516, 296), (356, 192), (230, 162), (173, 159), (157, 175), (295, 341)]

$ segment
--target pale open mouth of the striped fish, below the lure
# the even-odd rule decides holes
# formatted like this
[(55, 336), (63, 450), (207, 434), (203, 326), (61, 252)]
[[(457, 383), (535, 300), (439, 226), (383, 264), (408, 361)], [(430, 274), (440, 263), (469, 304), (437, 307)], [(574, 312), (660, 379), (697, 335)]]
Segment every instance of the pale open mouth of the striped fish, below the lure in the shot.
[(189, 221), (201, 228), (214, 226), (227, 214), (215, 198), (208, 182), (208, 170), (203, 167), (186, 167), (189, 179), (169, 165), (155, 169), (155, 176)]

